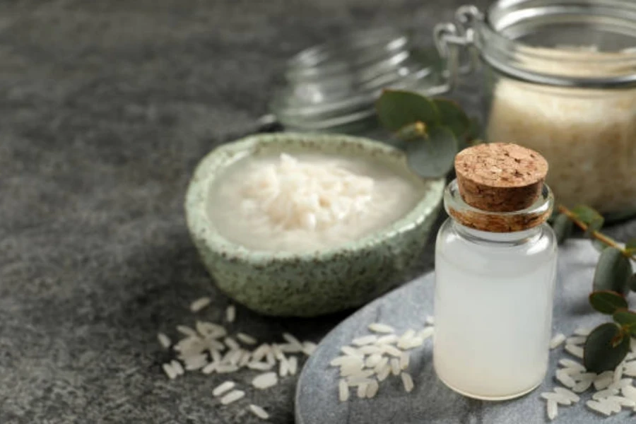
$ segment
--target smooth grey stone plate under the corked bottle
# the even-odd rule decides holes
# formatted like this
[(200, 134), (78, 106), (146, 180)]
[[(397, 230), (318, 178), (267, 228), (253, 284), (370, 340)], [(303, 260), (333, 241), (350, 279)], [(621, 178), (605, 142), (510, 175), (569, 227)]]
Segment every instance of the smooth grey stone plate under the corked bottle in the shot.
[[(558, 283), (554, 303), (554, 333), (570, 335), (579, 326), (595, 326), (604, 317), (591, 310), (587, 295), (598, 253), (587, 240), (568, 242), (560, 249)], [(296, 389), (296, 423), (298, 424), (514, 424), (548, 422), (542, 391), (555, 386), (553, 375), (560, 358), (572, 358), (563, 346), (550, 353), (550, 370), (541, 387), (530, 394), (505, 402), (483, 402), (454, 393), (440, 382), (432, 368), (432, 339), (412, 351), (408, 371), (415, 389), (406, 394), (399, 377), (389, 377), (380, 384), (374, 399), (358, 399), (351, 392), (349, 401), (338, 401), (338, 370), (329, 362), (339, 348), (356, 336), (367, 334), (367, 324), (383, 322), (398, 331), (420, 328), (432, 314), (434, 274), (428, 273), (383, 298), (375, 300), (342, 322), (320, 343), (307, 361)], [(519, 366), (523, 366), (520, 364)], [(560, 406), (556, 423), (625, 423), (635, 418), (630, 411), (604, 418), (590, 411), (584, 402), (591, 392), (582, 394), (575, 406)]]

